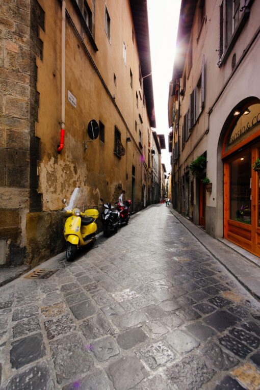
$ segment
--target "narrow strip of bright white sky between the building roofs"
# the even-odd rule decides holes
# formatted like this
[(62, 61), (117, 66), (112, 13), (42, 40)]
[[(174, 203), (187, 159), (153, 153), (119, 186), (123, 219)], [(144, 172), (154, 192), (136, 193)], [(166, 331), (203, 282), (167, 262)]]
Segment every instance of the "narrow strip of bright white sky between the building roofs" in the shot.
[(168, 93), (172, 77), (181, 0), (147, 0), (152, 65), (153, 98), (157, 134), (165, 135), (162, 163), (171, 170), (168, 152)]

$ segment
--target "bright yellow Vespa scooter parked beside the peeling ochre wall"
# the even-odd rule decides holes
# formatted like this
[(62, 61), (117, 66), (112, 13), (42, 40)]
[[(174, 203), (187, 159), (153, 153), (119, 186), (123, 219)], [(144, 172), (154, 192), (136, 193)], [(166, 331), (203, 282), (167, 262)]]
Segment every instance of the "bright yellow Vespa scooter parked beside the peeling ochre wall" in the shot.
[(65, 222), (64, 237), (67, 241), (66, 259), (68, 262), (72, 262), (77, 248), (95, 240), (97, 233), (95, 221), (98, 218), (98, 211), (89, 209), (84, 212), (84, 206), (83, 212), (77, 207), (68, 210), (66, 199), (63, 199), (62, 203), (67, 207), (66, 214), (70, 215)]

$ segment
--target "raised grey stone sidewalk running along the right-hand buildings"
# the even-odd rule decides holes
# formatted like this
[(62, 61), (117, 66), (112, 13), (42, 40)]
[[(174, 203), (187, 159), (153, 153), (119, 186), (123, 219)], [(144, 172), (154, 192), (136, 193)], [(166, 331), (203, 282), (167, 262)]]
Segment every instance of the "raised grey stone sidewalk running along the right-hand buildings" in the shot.
[(223, 242), (223, 239), (214, 239), (200, 227), (181, 216), (177, 211), (170, 210), (170, 212), (252, 296), (260, 300), (260, 261), (258, 259), (258, 263), (256, 262), (256, 256), (245, 250), (238, 251), (237, 245), (236, 248), (233, 247), (235, 244), (227, 245), (227, 240)]

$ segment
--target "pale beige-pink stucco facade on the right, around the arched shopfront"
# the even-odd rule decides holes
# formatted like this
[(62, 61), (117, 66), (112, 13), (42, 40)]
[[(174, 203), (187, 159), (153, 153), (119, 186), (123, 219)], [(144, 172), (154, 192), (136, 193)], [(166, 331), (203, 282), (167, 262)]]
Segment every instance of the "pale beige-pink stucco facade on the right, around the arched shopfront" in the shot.
[[(181, 13), (189, 6), (190, 14), (185, 22), (179, 23), (177, 46), (180, 50), (174, 63), (168, 105), (169, 126), (172, 127), (169, 144), (173, 161), (173, 205), (195, 224), (204, 222), (206, 232), (218, 238), (224, 236), (224, 136), (234, 110), (246, 101), (249, 105), (252, 98), (260, 98), (257, 67), (260, 60), (260, 2), (240, 2), (239, 22), (233, 24), (232, 34), (225, 41), (227, 32), (225, 27), (222, 30), (220, 12), (226, 3), (222, 0), (181, 3)], [(224, 42), (223, 49), (221, 42)], [(190, 99), (196, 87), (200, 96), (199, 112), (193, 123), (188, 123), (185, 135), (185, 114), (191, 111)], [(189, 115), (186, 118), (191, 119)], [(200, 188), (201, 178), (192, 176), (189, 168), (201, 155), (206, 157), (201, 177), (208, 177), (212, 183), (212, 192), (205, 192), (204, 221), (201, 219), (203, 200), (200, 192), (204, 191)]]

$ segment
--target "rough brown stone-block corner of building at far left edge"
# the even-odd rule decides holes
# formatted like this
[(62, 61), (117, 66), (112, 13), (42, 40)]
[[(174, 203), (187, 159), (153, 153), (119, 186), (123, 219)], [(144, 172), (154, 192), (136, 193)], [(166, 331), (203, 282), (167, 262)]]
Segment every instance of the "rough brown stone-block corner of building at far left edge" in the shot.
[(28, 257), (26, 214), (40, 212), (35, 137), (39, 94), (36, 57), (42, 59), (39, 27), (44, 11), (37, 0), (0, 0), (0, 238), (6, 242), (4, 264)]

